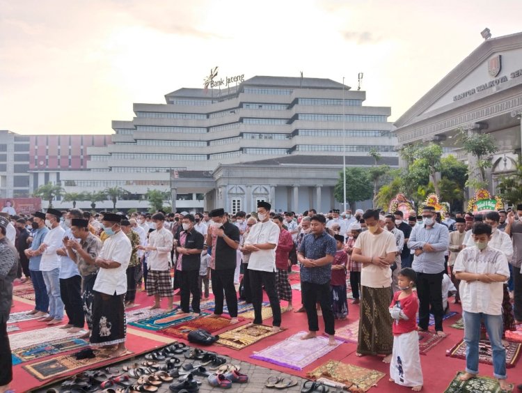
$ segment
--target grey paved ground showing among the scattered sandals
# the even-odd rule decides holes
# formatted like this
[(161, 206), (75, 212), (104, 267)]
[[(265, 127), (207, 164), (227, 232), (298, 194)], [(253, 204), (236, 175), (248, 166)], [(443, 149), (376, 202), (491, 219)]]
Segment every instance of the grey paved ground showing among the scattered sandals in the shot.
[[(221, 355), (219, 355), (219, 356), (221, 356)], [(177, 355), (177, 357), (180, 357), (180, 359), (184, 360), (184, 362), (182, 364), (196, 362), (194, 360), (185, 360), (183, 355)], [(222, 357), (226, 358), (227, 364), (239, 364), (241, 366), (240, 372), (246, 374), (250, 378), (248, 383), (232, 384), (232, 389), (230, 389), (230, 390), (227, 389), (226, 390), (227, 392), (238, 392), (238, 393), (267, 393), (267, 392), (274, 393), (274, 392), (278, 392), (278, 391), (301, 392), (301, 387), (302, 387), (304, 381), (306, 381), (306, 379), (299, 378), (296, 376), (291, 376), (290, 374), (286, 374), (286, 373), (281, 373), (280, 371), (274, 371), (267, 367), (260, 367), (260, 366), (257, 366), (255, 364), (251, 364), (248, 362), (241, 362), (239, 360), (232, 359), (228, 356), (222, 356)], [(145, 360), (145, 355), (141, 355), (138, 357), (131, 358), (125, 362), (115, 364), (113, 367), (117, 367), (118, 369), (121, 369), (126, 364), (134, 364), (134, 363), (141, 364), (141, 362), (143, 362), (144, 360)], [(287, 388), (285, 390), (276, 390), (276, 389), (272, 389), (272, 388), (267, 388), (264, 386), (264, 384), (266, 383), (267, 378), (269, 378), (270, 376), (278, 376), (281, 378), (283, 378), (283, 377), (292, 378), (293, 380), (295, 380), (297, 382), (297, 385), (294, 387)], [(203, 382), (200, 385), (200, 392), (203, 392), (203, 393), (223, 392), (223, 389), (220, 387), (210, 386), (208, 381), (206, 380), (206, 378), (197, 377), (197, 379), (201, 380)], [(132, 378), (131, 378), (131, 380), (135, 381)], [(161, 387), (159, 387), (159, 390), (157, 390), (157, 392), (158, 393), (171, 392), (168, 389), (168, 385), (169, 385), (168, 383), (163, 383), (161, 385)], [(54, 388), (58, 391), (62, 391), (61, 383), (56, 383), (54, 385), (45, 387), (44, 389), (35, 390), (34, 392), (47, 392), (47, 389), (49, 389), (49, 388)], [(102, 390), (100, 389), (99, 392), (102, 392)]]

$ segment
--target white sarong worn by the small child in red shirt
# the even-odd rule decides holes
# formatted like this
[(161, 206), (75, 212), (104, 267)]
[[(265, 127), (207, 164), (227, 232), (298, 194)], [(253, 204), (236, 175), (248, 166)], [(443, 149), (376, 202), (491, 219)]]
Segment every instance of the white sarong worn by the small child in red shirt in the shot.
[(419, 334), (416, 330), (393, 337), (390, 378), (392, 378), (397, 385), (422, 386)]

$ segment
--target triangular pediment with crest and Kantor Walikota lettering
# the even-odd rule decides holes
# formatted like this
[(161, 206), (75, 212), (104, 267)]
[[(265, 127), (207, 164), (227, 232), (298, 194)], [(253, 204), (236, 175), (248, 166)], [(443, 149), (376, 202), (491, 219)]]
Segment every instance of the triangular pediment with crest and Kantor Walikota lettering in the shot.
[(522, 84), (522, 33), (484, 41), (396, 122), (397, 128)]

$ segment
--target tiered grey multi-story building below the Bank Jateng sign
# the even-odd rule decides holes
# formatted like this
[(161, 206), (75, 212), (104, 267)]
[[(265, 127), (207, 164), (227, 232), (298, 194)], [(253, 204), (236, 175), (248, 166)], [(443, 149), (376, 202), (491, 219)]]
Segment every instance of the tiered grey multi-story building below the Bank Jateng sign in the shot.
[(143, 194), (156, 189), (171, 192), (178, 209), (253, 210), (265, 199), (276, 210), (324, 211), (339, 206), (343, 154), (351, 166), (371, 165), (372, 148), (383, 163), (398, 162), (390, 107), (363, 106), (365, 91), (331, 79), (253, 77), (165, 99), (113, 121), (113, 143), (88, 149), (90, 171), (61, 173), (65, 190), (120, 185), (136, 196), (118, 202), (122, 209), (148, 208)]

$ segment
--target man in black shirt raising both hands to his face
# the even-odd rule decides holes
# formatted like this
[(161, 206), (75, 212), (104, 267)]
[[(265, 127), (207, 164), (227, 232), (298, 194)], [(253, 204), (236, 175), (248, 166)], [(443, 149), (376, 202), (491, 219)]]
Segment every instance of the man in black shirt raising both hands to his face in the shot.
[[(234, 286), (236, 270), (236, 250), (239, 247), (239, 229), (230, 224), (224, 209), (214, 209), (209, 213), (210, 226), (207, 231), (207, 245), (212, 245), (210, 262), (212, 293), (214, 293), (214, 314), (223, 314), (223, 298), (227, 300), (230, 323), (237, 323), (237, 294)], [(224, 293), (224, 296), (223, 296)]]

